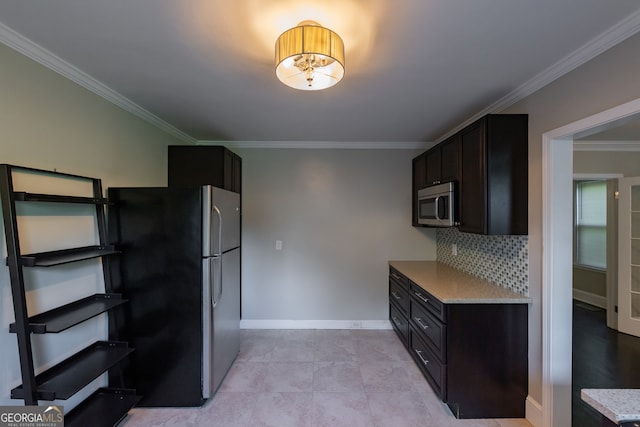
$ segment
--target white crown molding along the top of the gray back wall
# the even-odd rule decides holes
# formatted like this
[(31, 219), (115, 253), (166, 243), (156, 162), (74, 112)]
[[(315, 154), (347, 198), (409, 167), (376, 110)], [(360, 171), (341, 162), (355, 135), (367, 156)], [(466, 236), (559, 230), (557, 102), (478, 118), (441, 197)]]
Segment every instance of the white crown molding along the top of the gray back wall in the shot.
[(227, 148), (295, 148), (343, 150), (425, 150), (433, 142), (410, 141), (198, 141), (198, 145), (224, 145)]

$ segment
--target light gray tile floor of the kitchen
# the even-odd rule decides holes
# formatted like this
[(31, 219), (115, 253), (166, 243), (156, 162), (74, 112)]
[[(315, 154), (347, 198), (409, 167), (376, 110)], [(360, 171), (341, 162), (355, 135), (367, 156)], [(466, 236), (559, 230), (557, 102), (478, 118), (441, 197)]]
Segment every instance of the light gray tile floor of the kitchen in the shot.
[(457, 420), (391, 330), (243, 330), (240, 354), (201, 408), (136, 408), (122, 426), (531, 427)]

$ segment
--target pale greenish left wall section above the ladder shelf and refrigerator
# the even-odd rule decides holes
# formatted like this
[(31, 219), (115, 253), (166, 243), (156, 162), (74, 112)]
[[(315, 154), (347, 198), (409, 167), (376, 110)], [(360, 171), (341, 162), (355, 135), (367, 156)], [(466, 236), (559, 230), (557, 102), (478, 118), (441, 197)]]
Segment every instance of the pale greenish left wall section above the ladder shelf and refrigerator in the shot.
[(2, 163), (166, 185), (166, 146), (182, 142), (0, 44)]

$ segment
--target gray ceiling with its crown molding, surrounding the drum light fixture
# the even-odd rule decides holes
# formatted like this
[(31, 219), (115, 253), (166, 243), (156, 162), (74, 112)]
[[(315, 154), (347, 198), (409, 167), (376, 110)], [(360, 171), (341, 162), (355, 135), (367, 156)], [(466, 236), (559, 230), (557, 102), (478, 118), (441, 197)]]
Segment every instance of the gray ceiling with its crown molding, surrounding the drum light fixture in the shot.
[[(274, 72), (277, 36), (340, 34), (318, 92)], [(0, 2), (0, 41), (191, 142), (436, 142), (640, 30), (637, 0)]]

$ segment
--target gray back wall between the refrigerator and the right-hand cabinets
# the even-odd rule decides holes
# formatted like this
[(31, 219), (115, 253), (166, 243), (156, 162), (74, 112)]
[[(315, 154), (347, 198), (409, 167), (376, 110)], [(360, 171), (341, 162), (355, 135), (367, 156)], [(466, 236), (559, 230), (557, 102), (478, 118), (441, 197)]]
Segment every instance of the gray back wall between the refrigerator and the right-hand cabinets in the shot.
[(243, 327), (388, 326), (387, 261), (436, 258), (435, 232), (411, 226), (419, 151), (234, 151)]

